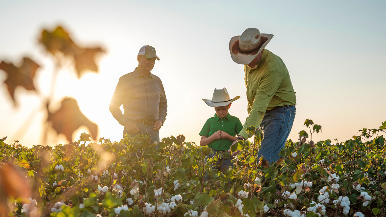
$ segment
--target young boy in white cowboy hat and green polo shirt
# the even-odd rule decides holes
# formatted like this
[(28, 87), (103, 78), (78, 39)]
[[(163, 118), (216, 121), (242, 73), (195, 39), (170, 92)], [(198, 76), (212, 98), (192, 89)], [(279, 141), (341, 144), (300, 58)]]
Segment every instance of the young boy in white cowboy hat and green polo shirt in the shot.
[[(242, 130), (243, 126), (240, 120), (228, 112), (232, 102), (239, 98), (240, 96), (230, 99), (227, 89), (223, 88), (215, 89), (212, 100), (202, 99), (207, 105), (214, 107), (216, 111), (214, 117), (209, 118), (205, 122), (200, 132), (200, 145), (209, 145), (214, 152), (214, 154), (209, 154), (205, 158), (205, 162), (208, 158), (213, 158), (217, 152), (228, 151), (232, 143), (237, 139), (235, 136)], [(231, 158), (218, 159), (216, 164), (218, 167), (221, 164), (221, 168), (219, 168), (221, 171), (228, 170), (229, 167), (233, 169)], [(225, 167), (227, 168), (224, 169)], [(208, 175), (205, 175), (204, 180), (209, 180)]]

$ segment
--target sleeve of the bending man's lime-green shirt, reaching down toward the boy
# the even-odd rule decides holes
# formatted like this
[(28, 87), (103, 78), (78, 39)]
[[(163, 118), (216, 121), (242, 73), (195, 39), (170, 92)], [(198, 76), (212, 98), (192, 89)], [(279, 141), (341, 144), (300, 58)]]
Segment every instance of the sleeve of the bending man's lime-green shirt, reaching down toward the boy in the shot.
[(245, 132), (245, 130), (252, 125), (256, 128), (260, 126), (267, 107), (278, 90), (282, 80), (281, 75), (277, 71), (271, 71), (261, 78), (252, 103), (251, 111), (245, 120), (244, 127), (239, 133), (240, 136), (245, 139), (253, 136), (251, 133)]

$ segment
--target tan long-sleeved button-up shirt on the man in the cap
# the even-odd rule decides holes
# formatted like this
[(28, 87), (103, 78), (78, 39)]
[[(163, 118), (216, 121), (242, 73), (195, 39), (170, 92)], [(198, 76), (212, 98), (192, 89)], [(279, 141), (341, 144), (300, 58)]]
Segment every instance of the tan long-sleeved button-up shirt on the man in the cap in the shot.
[[(122, 104), (124, 114), (119, 108)], [(161, 79), (150, 72), (145, 78), (137, 68), (119, 78), (110, 102), (110, 112), (121, 125), (129, 119), (165, 122), (167, 107)]]

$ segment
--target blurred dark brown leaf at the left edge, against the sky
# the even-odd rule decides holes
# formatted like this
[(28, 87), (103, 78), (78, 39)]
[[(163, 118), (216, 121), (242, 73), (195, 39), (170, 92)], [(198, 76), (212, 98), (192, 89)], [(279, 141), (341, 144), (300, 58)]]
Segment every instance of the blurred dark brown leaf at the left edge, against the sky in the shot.
[(15, 105), (17, 104), (15, 100), (15, 88), (17, 86), (23, 86), (26, 90), (35, 90), (33, 80), (36, 75), (36, 70), (39, 67), (39, 64), (27, 57), (23, 58), (22, 64), (20, 64), (19, 67), (5, 61), (0, 63), (0, 70), (5, 71), (8, 75), (4, 83), (7, 85), (9, 95), (12, 97)]

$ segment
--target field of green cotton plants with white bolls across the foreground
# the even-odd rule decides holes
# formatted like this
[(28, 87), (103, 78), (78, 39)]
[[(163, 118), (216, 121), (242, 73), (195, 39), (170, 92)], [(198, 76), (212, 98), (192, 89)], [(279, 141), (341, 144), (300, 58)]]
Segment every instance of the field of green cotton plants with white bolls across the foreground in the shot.
[[(255, 217), (296, 210), (317, 217), (326, 209), (344, 216), (342, 206), (333, 203), (340, 196), (349, 198), (350, 216), (356, 210), (384, 215), (383, 126), (364, 129), (359, 136), (336, 144), (313, 142), (321, 127), (312, 120), (306, 120), (305, 126), (309, 132), (301, 131), (298, 142), (288, 140), (278, 162), (257, 158), (264, 135), (249, 127), (254, 142), (238, 141), (231, 147), (232, 152), (241, 151), (232, 159), (234, 169), (213, 166), (229, 158), (229, 153), (205, 163), (212, 150), (185, 142), (183, 136), (163, 138), (159, 149), (143, 135), (126, 136), (119, 142), (101, 138), (94, 143), (82, 134), (79, 142), (54, 148), (28, 149), (2, 141), (0, 161), (26, 171), (37, 209), (52, 217), (190, 216), (194, 212), (200, 216), (204, 211), (209, 216)], [(204, 181), (205, 175), (209, 181)], [(320, 204), (323, 187), (329, 201)], [(361, 192), (371, 199), (365, 200)], [(293, 194), (296, 198), (288, 197)], [(10, 212), (21, 215), (23, 202), (18, 198), (15, 202)]]

